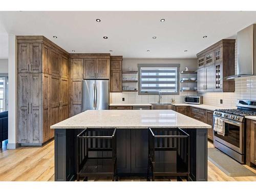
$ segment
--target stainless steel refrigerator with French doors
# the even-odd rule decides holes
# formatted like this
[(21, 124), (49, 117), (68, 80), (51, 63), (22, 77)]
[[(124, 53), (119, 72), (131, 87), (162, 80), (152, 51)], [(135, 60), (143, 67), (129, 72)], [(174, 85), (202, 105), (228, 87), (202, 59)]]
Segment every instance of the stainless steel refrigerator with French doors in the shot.
[(109, 109), (109, 80), (82, 80), (82, 111)]

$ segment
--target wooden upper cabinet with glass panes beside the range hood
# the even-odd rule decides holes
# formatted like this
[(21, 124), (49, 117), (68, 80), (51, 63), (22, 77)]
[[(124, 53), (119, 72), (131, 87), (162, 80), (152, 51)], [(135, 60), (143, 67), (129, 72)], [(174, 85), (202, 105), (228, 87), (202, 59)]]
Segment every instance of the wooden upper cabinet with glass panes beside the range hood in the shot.
[(234, 46), (236, 39), (222, 39), (197, 54), (198, 92), (234, 92)]

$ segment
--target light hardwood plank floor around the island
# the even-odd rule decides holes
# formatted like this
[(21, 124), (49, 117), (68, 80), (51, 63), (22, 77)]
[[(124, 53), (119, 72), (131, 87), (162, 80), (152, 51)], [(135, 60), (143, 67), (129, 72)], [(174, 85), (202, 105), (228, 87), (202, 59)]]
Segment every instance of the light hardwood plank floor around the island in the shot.
[[(212, 143), (208, 142), (208, 147), (213, 147)], [(255, 168), (248, 166), (246, 168), (256, 173)], [(110, 180), (95, 179), (95, 181)], [(146, 181), (143, 177), (119, 180)], [(54, 141), (42, 147), (19, 147), (16, 150), (6, 150), (4, 146), (0, 149), (0, 181), (54, 181)], [(171, 181), (176, 181), (176, 178), (172, 178)], [(256, 177), (229, 177), (208, 161), (208, 181), (256, 181)]]

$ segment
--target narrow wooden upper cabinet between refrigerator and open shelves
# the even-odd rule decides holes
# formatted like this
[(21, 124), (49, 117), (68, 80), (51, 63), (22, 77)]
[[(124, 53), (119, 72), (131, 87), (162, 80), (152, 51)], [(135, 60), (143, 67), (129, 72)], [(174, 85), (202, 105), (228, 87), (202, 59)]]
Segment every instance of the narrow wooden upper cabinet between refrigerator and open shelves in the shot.
[(122, 56), (111, 57), (110, 92), (122, 92)]

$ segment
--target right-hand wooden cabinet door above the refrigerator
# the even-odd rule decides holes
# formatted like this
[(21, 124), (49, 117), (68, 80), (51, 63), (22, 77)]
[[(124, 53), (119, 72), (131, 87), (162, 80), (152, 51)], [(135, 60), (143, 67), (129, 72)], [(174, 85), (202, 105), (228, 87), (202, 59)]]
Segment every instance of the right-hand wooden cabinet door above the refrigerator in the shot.
[(110, 59), (97, 59), (97, 79), (110, 78)]

